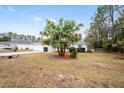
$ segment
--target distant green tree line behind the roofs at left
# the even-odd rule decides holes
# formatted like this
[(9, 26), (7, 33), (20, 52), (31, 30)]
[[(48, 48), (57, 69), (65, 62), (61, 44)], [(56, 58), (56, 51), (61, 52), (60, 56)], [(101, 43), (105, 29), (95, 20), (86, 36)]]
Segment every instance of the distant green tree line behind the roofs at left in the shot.
[(23, 40), (28, 40), (28, 41), (32, 41), (32, 42), (39, 42), (40, 41), (40, 37), (36, 38), (33, 35), (19, 35), (17, 33), (13, 33), (13, 32), (7, 32), (7, 33), (3, 33), (4, 35), (0, 37), (0, 41), (11, 41), (12, 39), (23, 39)]

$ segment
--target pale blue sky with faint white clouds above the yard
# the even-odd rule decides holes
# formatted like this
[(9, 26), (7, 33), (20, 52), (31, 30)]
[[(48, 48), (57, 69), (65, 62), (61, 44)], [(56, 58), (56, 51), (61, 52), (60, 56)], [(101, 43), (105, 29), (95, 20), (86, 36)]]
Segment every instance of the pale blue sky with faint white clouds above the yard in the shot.
[(16, 5), (0, 6), (0, 32), (16, 32), (39, 36), (45, 26), (46, 19), (59, 20), (60, 18), (72, 19), (81, 22), (83, 33), (90, 25), (91, 16), (94, 15), (97, 6), (94, 5)]

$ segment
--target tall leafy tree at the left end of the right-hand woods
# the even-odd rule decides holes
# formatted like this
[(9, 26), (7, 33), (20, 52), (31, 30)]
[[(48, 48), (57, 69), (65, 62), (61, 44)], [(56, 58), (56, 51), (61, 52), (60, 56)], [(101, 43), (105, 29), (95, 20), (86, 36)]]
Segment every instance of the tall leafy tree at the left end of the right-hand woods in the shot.
[[(92, 33), (92, 36), (91, 34), (88, 34), (87, 41), (92, 41), (95, 48), (102, 47), (103, 41), (108, 38), (107, 16), (105, 13), (106, 6), (98, 6), (94, 17), (92, 17), (92, 23), (90, 27), (90, 33)], [(88, 40), (88, 38), (90, 39)], [(89, 42), (89, 44), (91, 44), (91, 42)]]

